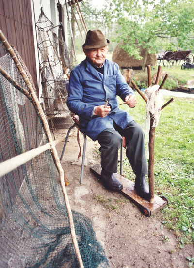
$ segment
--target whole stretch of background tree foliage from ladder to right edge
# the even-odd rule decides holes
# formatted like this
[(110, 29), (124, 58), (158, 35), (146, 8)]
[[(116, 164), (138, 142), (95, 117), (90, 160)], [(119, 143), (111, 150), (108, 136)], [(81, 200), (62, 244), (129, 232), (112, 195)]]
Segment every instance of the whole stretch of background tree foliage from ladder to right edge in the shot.
[(193, 0), (105, 0), (101, 9), (85, 0), (81, 10), (88, 30), (99, 28), (112, 41), (111, 51), (121, 43), (140, 60), (140, 47), (147, 53), (194, 47)]

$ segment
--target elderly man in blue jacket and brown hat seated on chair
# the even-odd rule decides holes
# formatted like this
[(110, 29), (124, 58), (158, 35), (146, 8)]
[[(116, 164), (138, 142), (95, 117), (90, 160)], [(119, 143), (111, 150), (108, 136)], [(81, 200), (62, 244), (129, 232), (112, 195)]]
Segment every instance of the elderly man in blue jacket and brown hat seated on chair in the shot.
[(82, 45), (86, 59), (70, 74), (67, 105), (79, 116), (81, 131), (100, 144), (101, 178), (105, 186), (110, 190), (123, 188), (114, 173), (117, 172), (118, 150), (125, 137), (126, 156), (136, 175), (135, 189), (141, 197), (148, 198), (144, 133), (126, 111), (118, 108), (116, 96), (130, 108), (135, 107), (136, 97), (119, 66), (106, 59), (109, 44), (99, 29), (87, 32)]

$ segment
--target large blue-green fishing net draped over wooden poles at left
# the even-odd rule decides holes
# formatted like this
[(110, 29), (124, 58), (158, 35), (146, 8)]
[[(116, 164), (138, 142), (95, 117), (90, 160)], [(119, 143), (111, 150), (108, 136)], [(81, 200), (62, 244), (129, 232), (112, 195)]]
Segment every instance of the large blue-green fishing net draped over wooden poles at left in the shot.
[[(50, 138), (31, 87), (1, 41), (0, 162), (4, 162), (47, 144)], [(20, 62), (32, 82), (21, 59)], [(46, 150), (0, 177), (2, 268), (80, 267), (72, 242), (68, 202), (53, 154), (54, 149)], [(108, 267), (90, 219), (75, 211), (72, 216), (84, 267)]]

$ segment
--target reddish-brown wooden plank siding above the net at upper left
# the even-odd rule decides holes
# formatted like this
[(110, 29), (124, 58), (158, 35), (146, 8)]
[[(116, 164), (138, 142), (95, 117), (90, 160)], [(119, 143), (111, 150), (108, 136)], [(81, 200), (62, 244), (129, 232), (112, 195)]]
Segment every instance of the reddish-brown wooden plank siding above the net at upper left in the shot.
[(38, 91), (30, 0), (0, 0), (0, 29), (21, 55)]

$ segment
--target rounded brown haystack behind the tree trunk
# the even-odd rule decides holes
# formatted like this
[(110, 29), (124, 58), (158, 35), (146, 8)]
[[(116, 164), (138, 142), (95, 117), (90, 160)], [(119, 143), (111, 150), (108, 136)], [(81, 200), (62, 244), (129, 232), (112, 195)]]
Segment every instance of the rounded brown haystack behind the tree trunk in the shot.
[[(112, 60), (119, 65), (120, 69), (124, 69), (124, 68), (138, 68), (138, 69), (140, 69), (142, 67), (143, 58), (145, 55), (145, 49), (143, 49), (142, 47), (140, 48), (140, 55), (143, 58), (141, 60), (137, 60), (134, 57), (130, 57), (129, 54), (120, 47), (120, 44), (118, 44), (115, 47), (115, 49), (113, 51)], [(150, 66), (156, 65), (156, 60), (157, 60), (156, 54), (148, 54), (147, 60), (146, 60), (146, 66), (147, 65), (150, 65)]]

